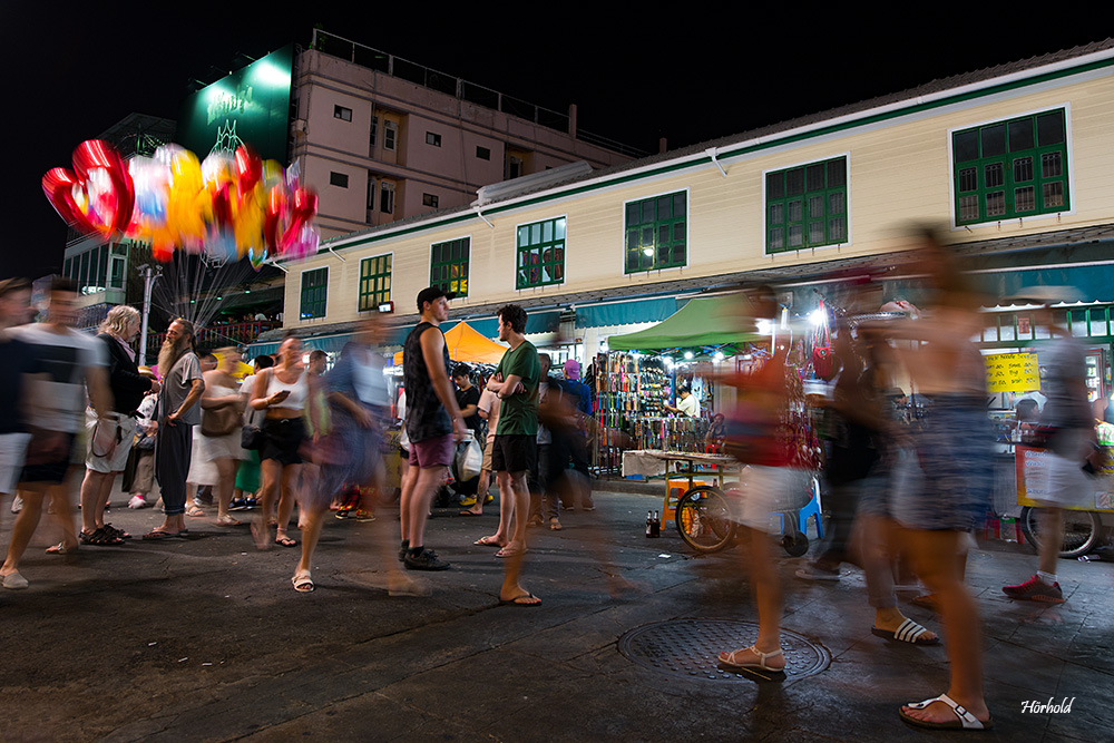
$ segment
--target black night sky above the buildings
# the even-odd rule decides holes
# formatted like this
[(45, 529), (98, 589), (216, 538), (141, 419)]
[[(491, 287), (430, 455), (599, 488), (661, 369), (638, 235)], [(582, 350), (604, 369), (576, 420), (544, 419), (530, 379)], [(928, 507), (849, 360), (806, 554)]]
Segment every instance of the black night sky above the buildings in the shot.
[[(575, 102), (582, 129), (657, 151), (659, 137), (682, 147), (1097, 41), (1112, 20), (1073, 13), (1054, 27), (1026, 14), (960, 29), (962, 13), (944, 6), (917, 9), (915, 25), (898, 26), (866, 11), (802, 6), (766, 16), (690, 11), (698, 18), (677, 20), (671, 16), (682, 7), (648, 4), (590, 6), (596, 16), (586, 3), (392, 3), (390, 12), (374, 4), (305, 10), (324, 4), (313, 2), (291, 10), (276, 2), (95, 4), (0, 4), (8, 84), (0, 278), (60, 270), (66, 228), (40, 180), (51, 167), (70, 167), (81, 140), (131, 111), (176, 118), (190, 78), (217, 79), (237, 52), (258, 58), (290, 41), (309, 46), (315, 23), (558, 111)], [(250, 10), (264, 7), (265, 18)], [(559, 12), (547, 18), (547, 9)]]

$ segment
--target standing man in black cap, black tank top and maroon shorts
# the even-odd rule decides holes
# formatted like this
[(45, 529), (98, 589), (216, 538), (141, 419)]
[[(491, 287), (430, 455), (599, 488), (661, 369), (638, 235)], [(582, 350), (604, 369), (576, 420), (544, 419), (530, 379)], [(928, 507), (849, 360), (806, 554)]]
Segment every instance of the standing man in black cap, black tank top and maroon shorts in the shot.
[(449, 300), (456, 294), (437, 286), (418, 293), (421, 322), (402, 346), (403, 385), (407, 390), (407, 434), (410, 471), (402, 487), (400, 515), (402, 546), (399, 558), (411, 570), (444, 570), (449, 564), (423, 546), (429, 505), (452, 462), (453, 441), (466, 428), (449, 382), (449, 350), (438, 323), (449, 319)]

